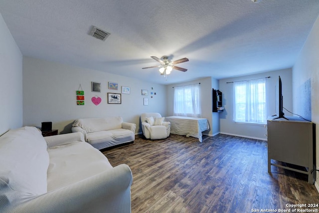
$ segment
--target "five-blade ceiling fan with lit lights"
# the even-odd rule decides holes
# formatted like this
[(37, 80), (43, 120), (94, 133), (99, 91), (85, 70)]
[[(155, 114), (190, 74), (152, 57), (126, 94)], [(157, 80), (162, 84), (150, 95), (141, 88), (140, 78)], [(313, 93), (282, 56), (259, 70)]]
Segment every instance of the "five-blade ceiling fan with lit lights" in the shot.
[(183, 72), (187, 71), (187, 69), (179, 67), (179, 66), (175, 66), (175, 64), (186, 62), (186, 61), (188, 61), (188, 58), (181, 58), (181, 59), (178, 59), (175, 61), (171, 61), (170, 59), (168, 59), (167, 56), (163, 56), (162, 60), (156, 56), (151, 56), (151, 58), (160, 62), (160, 65), (143, 67), (142, 69), (160, 67), (160, 69), (159, 69), (160, 75), (164, 75), (164, 77), (166, 77), (166, 75), (169, 75), (172, 69), (176, 69), (176, 70), (183, 71)]

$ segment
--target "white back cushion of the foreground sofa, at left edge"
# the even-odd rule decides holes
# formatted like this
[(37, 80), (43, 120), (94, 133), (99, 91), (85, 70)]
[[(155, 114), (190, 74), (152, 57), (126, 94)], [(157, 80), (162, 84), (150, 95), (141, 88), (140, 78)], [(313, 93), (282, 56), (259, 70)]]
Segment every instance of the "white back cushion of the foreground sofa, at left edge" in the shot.
[(46, 142), (37, 128), (22, 127), (2, 135), (0, 156), (0, 182), (11, 190), (0, 190), (0, 201), (12, 197), (5, 195), (7, 193), (21, 193), (20, 199), (23, 199), (47, 192), (49, 155)]

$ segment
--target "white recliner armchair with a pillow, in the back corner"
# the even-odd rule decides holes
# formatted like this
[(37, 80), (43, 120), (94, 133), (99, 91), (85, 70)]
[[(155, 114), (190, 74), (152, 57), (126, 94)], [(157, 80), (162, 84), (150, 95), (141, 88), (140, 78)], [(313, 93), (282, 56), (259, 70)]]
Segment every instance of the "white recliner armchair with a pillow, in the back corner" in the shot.
[(147, 139), (165, 139), (170, 134), (170, 122), (164, 121), (160, 113), (143, 113), (141, 115), (142, 131)]

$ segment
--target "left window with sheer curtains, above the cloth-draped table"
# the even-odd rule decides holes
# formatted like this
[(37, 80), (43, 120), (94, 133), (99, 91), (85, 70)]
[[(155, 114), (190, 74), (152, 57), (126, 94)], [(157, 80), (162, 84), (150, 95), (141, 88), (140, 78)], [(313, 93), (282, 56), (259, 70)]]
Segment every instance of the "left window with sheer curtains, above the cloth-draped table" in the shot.
[(201, 117), (199, 84), (174, 87), (174, 115)]

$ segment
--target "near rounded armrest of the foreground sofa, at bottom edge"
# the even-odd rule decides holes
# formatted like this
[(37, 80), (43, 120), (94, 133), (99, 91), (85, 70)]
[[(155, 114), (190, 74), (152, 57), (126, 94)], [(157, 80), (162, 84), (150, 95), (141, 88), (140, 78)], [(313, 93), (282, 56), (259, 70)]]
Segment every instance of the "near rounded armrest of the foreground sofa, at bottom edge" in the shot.
[(15, 206), (18, 213), (130, 213), (133, 176), (121, 164)]

